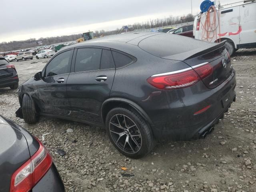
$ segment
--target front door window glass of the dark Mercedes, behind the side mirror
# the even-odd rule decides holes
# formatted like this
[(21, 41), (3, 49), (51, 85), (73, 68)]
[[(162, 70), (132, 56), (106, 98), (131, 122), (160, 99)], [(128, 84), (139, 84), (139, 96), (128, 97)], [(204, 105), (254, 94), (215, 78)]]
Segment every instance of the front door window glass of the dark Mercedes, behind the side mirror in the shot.
[(73, 50), (63, 52), (54, 57), (46, 66), (45, 76), (54, 76), (70, 72), (70, 62)]

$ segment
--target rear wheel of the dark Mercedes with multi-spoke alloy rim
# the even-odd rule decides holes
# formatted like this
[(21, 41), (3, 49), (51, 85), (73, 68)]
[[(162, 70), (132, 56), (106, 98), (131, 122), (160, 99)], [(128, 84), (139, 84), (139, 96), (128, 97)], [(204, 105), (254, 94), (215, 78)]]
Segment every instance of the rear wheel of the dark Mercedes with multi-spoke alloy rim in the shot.
[[(136, 132), (135, 134), (138, 134), (138, 133), (140, 134), (140, 136), (136, 139), (136, 143), (139, 144), (140, 147), (138, 145), (137, 146), (135, 145), (136, 143), (134, 142), (134, 137), (131, 136), (132, 135), (131, 129), (130, 129), (130, 132), (128, 131), (128, 134), (126, 133), (127, 126), (123, 126), (123, 128), (126, 127), (126, 130), (122, 130), (123, 128), (120, 130), (120, 132), (122, 132), (120, 134), (123, 134), (123, 136), (120, 136), (120, 135), (117, 136), (118, 139), (114, 138), (113, 130), (110, 131), (110, 129), (113, 128), (113, 124), (110, 124), (110, 120), (112, 121), (112, 119), (115, 118), (116, 116), (119, 116), (119, 118), (120, 118), (120, 120), (118, 120), (118, 118), (117, 118), (118, 122), (120, 122), (120, 125), (125, 122), (121, 118), (122, 115), (123, 115), (123, 117), (124, 116), (126, 117), (127, 124), (129, 124), (128, 121), (130, 121), (136, 125), (135, 127), (136, 127), (136, 129), (138, 129), (139, 132)], [(125, 125), (126, 125), (126, 122), (125, 122)], [(130, 127), (132, 127), (132, 126), (130, 126)], [(117, 127), (114, 125), (114, 128), (117, 128)], [(110, 110), (110, 112), (108, 112), (108, 114), (106, 116), (106, 130), (107, 130), (108, 136), (110, 138), (110, 141), (115, 146), (115, 148), (120, 153), (122, 153), (125, 156), (128, 156), (130, 158), (138, 159), (138, 158), (145, 156), (153, 149), (154, 145), (156, 144), (155, 138), (153, 136), (152, 130), (150, 129), (150, 126), (148, 126), (148, 124), (146, 123), (144, 118), (142, 118), (142, 116), (140, 116), (140, 114), (138, 114), (138, 112), (136, 112), (136, 110), (134, 110), (132, 108), (127, 109), (127, 108), (123, 108), (123, 107), (118, 107), (118, 108), (114, 108), (114, 109)], [(130, 134), (130, 138), (129, 138), (129, 134)], [(128, 137), (128, 142), (127, 142), (128, 145), (126, 144), (127, 137)], [(121, 148), (120, 143), (122, 140), (123, 141), (125, 140), (124, 146), (126, 146), (126, 148), (130, 148), (133, 152), (127, 152), (126, 150), (123, 150)], [(116, 142), (116, 141), (118, 141), (118, 142)], [(133, 149), (132, 149), (131, 145), (133, 146)]]

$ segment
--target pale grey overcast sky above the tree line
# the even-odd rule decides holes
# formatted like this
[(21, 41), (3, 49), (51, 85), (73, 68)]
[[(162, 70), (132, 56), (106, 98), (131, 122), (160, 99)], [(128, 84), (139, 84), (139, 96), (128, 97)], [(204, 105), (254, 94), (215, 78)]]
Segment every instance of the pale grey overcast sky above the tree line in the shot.
[[(203, 0), (192, 0), (192, 13)], [(222, 4), (236, 0), (221, 0)], [(114, 30), (191, 13), (191, 0), (1, 0), (0, 42)]]

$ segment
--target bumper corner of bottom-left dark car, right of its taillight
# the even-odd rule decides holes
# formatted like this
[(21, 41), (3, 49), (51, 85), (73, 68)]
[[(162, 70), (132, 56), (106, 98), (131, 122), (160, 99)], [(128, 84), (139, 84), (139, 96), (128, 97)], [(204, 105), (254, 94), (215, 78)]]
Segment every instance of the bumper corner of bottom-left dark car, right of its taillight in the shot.
[(52, 164), (51, 168), (44, 177), (34, 186), (32, 192), (65, 192), (64, 184), (60, 175)]

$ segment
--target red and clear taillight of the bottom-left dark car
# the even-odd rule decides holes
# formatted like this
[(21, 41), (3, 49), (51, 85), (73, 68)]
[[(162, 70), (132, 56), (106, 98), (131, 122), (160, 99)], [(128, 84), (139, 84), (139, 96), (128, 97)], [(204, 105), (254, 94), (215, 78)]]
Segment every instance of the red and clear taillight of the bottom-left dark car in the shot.
[(12, 174), (10, 192), (30, 191), (52, 166), (52, 157), (38, 142), (38, 151)]

